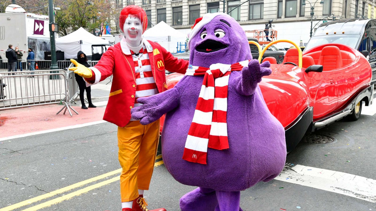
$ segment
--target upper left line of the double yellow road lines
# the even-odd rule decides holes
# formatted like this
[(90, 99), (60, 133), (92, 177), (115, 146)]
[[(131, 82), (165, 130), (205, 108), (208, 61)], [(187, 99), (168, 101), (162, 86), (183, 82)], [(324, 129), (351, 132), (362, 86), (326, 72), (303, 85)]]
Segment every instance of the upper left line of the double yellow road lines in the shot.
[(94, 181), (97, 181), (99, 179), (103, 179), (103, 178), (106, 178), (108, 176), (112, 176), (114, 174), (117, 174), (117, 173), (120, 173), (121, 172), (121, 168), (120, 169), (117, 169), (117, 170), (114, 170), (112, 172), (108, 172), (108, 173), (105, 173), (105, 174), (102, 174), (102, 175), (99, 175), (99, 176), (96, 176), (96, 177), (93, 177), (93, 178), (90, 178), (90, 179), (86, 179), (84, 181), (81, 181), (81, 182), (77, 182), (73, 185), (69, 185), (67, 187), (64, 187), (64, 188), (60, 188), (58, 190), (55, 190), (55, 191), (52, 191), (50, 193), (46, 193), (46, 194), (43, 194), (43, 195), (40, 195), (40, 196), (37, 196), (37, 197), (34, 197), (32, 199), (28, 199), (28, 200), (24, 200), (23, 202), (18, 202), (18, 203), (15, 203), (13, 205), (10, 205), (10, 206), (6, 206), (4, 208), (1, 208), (0, 211), (9, 211), (9, 210), (13, 210), (13, 209), (16, 209), (16, 208), (19, 208), (21, 206), (25, 206), (25, 205), (28, 205), (30, 203), (34, 203), (34, 202), (37, 202), (39, 200), (42, 200), (42, 199), (45, 199), (45, 198), (48, 198), (48, 197), (51, 197), (51, 196), (55, 196), (57, 194), (60, 194), (60, 193), (63, 193), (65, 191), (68, 191), (68, 190), (71, 190), (71, 189), (74, 189), (74, 188), (77, 188), (77, 187), (80, 187), (82, 185), (86, 185), (90, 182), (94, 182)]

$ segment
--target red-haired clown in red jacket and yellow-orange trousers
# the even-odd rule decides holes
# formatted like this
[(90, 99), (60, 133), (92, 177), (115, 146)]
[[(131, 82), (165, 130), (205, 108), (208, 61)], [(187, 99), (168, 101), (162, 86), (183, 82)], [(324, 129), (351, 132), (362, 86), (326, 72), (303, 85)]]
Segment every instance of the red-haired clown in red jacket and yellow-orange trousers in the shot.
[[(135, 5), (125, 7), (120, 14), (124, 38), (108, 48), (97, 65), (91, 68), (76, 65), (71, 68), (88, 84), (96, 84), (113, 75), (104, 120), (118, 126), (120, 192), (123, 211), (147, 211), (143, 198), (149, 189), (159, 140), (159, 119), (147, 125), (131, 118), (130, 109), (142, 105), (139, 97), (167, 90), (165, 68), (185, 73), (188, 61), (178, 60), (158, 43), (141, 35), (147, 28), (146, 12)], [(164, 208), (155, 211), (165, 211)]]

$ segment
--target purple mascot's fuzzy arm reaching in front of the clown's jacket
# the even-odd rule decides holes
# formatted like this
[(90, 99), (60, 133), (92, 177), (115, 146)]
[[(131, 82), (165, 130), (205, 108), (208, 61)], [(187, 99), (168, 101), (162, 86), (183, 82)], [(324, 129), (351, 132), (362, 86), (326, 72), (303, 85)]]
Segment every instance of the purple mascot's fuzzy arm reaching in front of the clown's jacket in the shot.
[(170, 112), (179, 104), (179, 92), (176, 87), (159, 94), (138, 98), (142, 103), (139, 107), (130, 110), (133, 119), (141, 120), (143, 125), (150, 124)]

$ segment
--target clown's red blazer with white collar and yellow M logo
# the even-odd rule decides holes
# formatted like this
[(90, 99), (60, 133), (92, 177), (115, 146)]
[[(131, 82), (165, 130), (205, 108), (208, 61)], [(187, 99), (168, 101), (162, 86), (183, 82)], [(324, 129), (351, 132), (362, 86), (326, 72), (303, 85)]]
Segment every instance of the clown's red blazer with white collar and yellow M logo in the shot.
[[(185, 74), (188, 61), (177, 59), (156, 42), (144, 41), (144, 44), (149, 54), (155, 83), (161, 93), (167, 90), (165, 69)], [(130, 120), (130, 109), (135, 104), (136, 93), (135, 66), (125, 40), (109, 47), (97, 65), (90, 69), (95, 77), (94, 83), (88, 81), (90, 84), (96, 84), (113, 75), (111, 93), (103, 119), (124, 127)]]

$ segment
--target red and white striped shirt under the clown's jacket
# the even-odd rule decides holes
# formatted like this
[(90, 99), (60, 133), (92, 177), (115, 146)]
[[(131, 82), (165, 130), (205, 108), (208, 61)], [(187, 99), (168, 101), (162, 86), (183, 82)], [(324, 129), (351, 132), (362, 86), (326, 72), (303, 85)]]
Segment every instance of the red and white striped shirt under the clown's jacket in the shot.
[[(147, 53), (145, 45), (138, 55), (134, 54), (133, 51), (130, 51), (130, 53), (132, 54), (136, 72), (136, 95), (135, 105), (133, 107), (138, 107), (142, 105), (137, 102), (138, 98), (152, 96), (159, 92), (153, 77), (152, 66), (150, 66), (149, 54)], [(130, 121), (135, 121), (135, 119), (131, 117)]]

